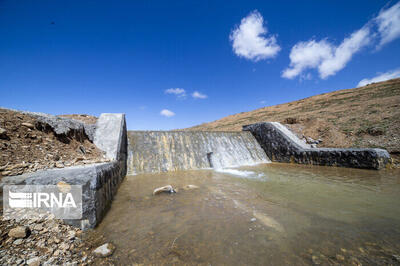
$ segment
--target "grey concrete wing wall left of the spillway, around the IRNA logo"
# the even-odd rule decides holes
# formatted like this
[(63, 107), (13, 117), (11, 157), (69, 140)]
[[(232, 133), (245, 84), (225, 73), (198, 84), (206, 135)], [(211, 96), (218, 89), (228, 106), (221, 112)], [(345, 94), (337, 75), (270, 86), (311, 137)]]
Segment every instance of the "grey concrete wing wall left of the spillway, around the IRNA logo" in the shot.
[(119, 184), (126, 176), (127, 133), (124, 114), (101, 114), (94, 143), (111, 162), (50, 169), (2, 179), (2, 184), (56, 185), (63, 181), (82, 185), (82, 220), (65, 220), (82, 229), (95, 227), (106, 214)]

